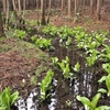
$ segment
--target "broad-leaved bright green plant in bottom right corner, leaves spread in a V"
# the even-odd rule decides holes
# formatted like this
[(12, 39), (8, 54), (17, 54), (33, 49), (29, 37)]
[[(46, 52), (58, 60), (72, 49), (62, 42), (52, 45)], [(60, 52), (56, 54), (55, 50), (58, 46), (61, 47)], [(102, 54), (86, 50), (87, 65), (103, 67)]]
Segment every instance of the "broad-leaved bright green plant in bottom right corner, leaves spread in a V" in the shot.
[(85, 110), (110, 110), (110, 107), (108, 107), (108, 106), (97, 107), (97, 103), (98, 103), (100, 97), (101, 97), (101, 94), (97, 94), (92, 98), (91, 101), (88, 98), (86, 98), (86, 97), (77, 96), (76, 98), (77, 98), (78, 101), (81, 101), (81, 103), (85, 107)]

